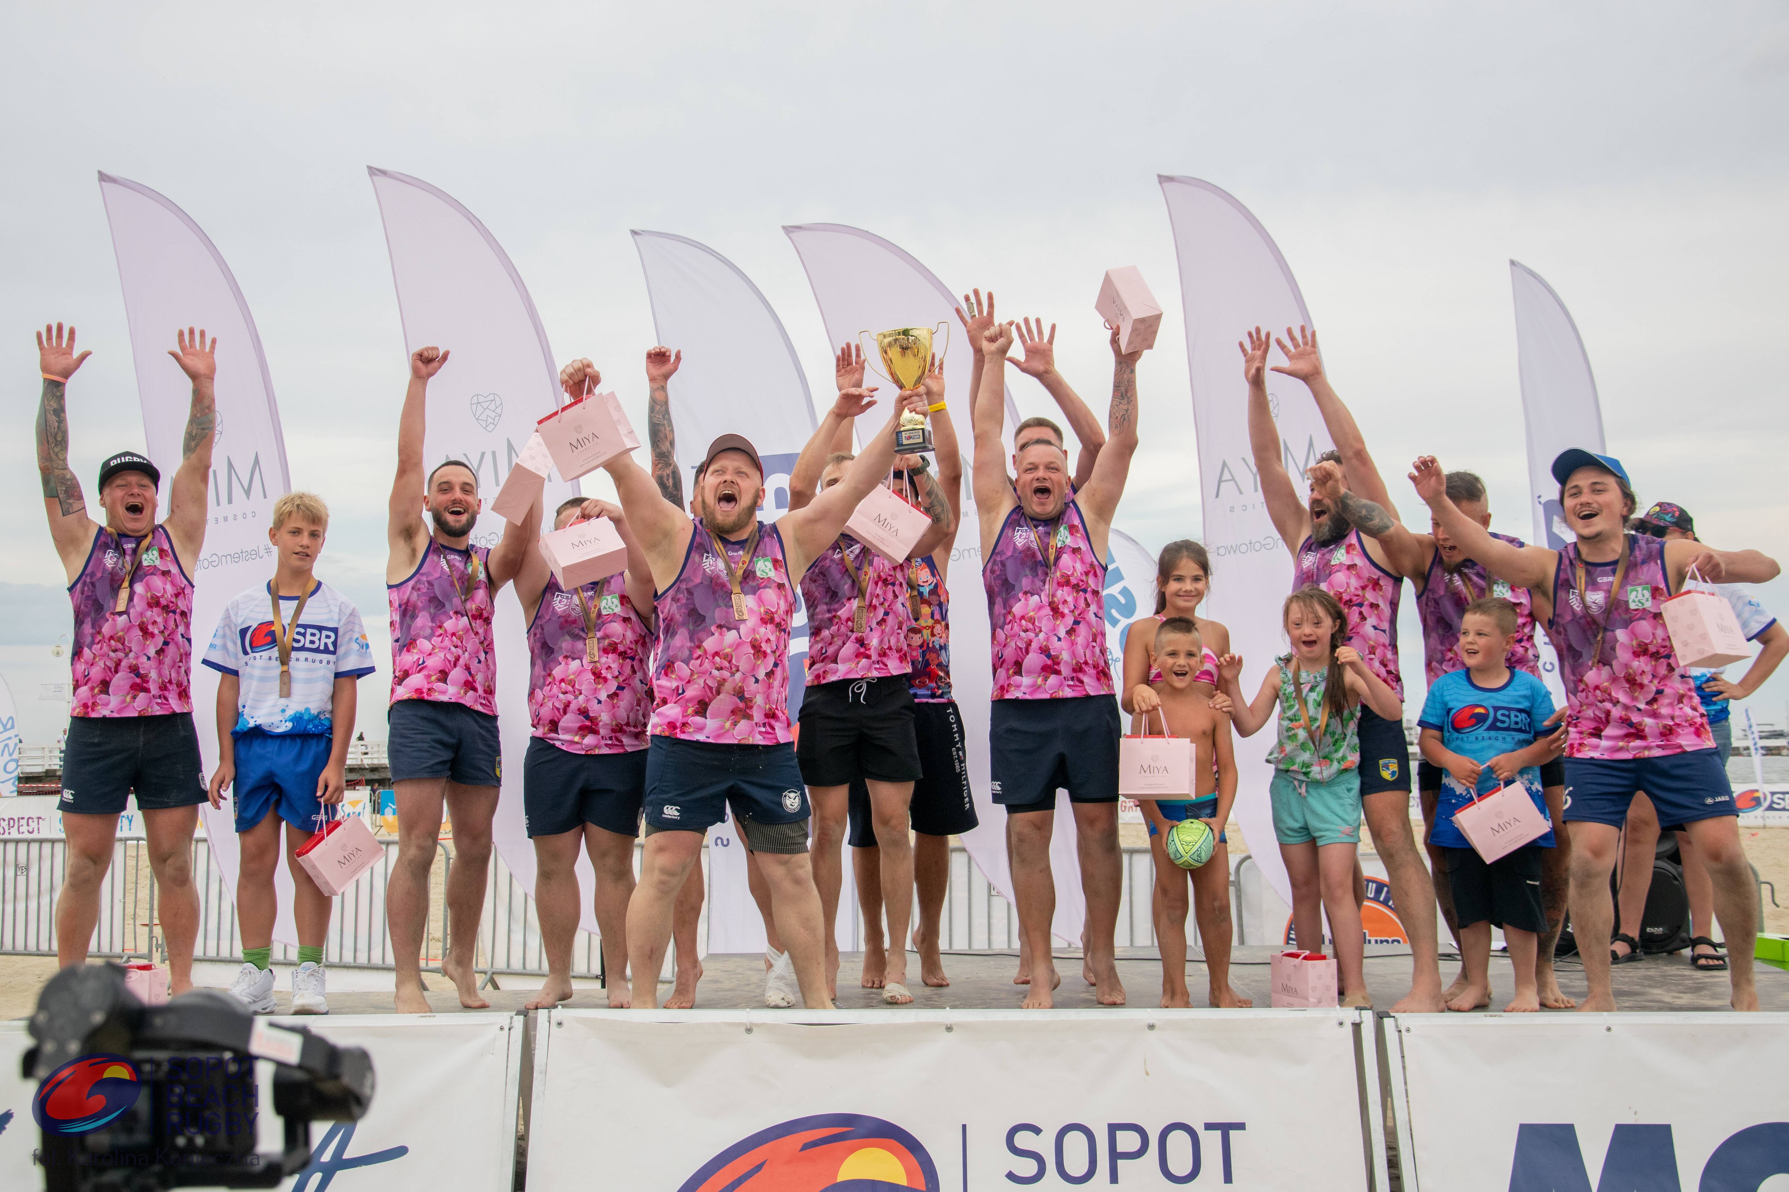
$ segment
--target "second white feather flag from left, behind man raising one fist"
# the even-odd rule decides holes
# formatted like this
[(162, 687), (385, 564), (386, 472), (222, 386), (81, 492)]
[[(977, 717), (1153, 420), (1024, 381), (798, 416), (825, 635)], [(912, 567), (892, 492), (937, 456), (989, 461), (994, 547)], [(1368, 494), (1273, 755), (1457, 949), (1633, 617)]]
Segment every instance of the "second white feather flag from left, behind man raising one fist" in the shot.
[[(372, 191), (385, 222), (392, 254), (392, 281), (404, 322), (404, 352), (426, 345), (447, 348), (453, 357), (429, 382), (429, 422), (424, 459), (429, 466), (462, 459), (478, 474), (485, 513), (472, 529), (472, 541), (494, 547), (504, 520), (488, 511), (515, 457), (528, 445), (535, 422), (551, 413), (560, 397), (558, 365), (533, 298), (503, 245), (453, 197), (390, 170), (374, 170)], [(394, 377), (401, 375), (394, 368)], [(408, 375), (408, 374), (404, 374)], [(395, 382), (394, 382), (395, 384)], [(394, 391), (394, 400), (401, 393)], [(390, 457), (395, 468), (395, 443)], [(383, 484), (383, 474), (374, 477)], [(547, 477), (544, 495), (551, 509), (576, 493), (558, 475)], [(417, 493), (422, 516), (422, 493)], [(374, 617), (383, 609), (369, 609)], [(504, 865), (535, 890), (535, 851), (522, 818), (522, 756), (528, 752), (528, 627), (513, 588), (499, 593), (494, 624), (497, 645), (497, 726), (503, 738), (503, 795), (492, 838)], [(363, 699), (385, 699), (369, 692)], [(596, 931), (590, 892), (596, 874), (590, 860), (578, 856), (578, 883), (585, 931)]]

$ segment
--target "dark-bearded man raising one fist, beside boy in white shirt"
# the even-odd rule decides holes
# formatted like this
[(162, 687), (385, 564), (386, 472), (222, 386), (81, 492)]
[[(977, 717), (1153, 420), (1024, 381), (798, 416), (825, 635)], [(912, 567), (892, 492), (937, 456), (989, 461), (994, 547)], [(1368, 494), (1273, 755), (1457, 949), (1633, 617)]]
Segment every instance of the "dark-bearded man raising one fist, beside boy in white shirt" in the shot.
[[(442, 808), (453, 818), (447, 876), (447, 956), (442, 972), (460, 1004), (483, 1010), (474, 949), (485, 910), (490, 822), (503, 761), (497, 742), (497, 654), (490, 618), (503, 584), (521, 570), (528, 534), (504, 524), (496, 547), (472, 543), (478, 474), (458, 459), (424, 472), (428, 390), (447, 363), (437, 347), (410, 354), (410, 388), (397, 420), (397, 477), (386, 524), (385, 586), (392, 606), (392, 708), (386, 752), (397, 801), (397, 865), (385, 913), (397, 967), (397, 1010), (429, 1013), (422, 995), (422, 931)], [(429, 527), (417, 516), (429, 515)]]

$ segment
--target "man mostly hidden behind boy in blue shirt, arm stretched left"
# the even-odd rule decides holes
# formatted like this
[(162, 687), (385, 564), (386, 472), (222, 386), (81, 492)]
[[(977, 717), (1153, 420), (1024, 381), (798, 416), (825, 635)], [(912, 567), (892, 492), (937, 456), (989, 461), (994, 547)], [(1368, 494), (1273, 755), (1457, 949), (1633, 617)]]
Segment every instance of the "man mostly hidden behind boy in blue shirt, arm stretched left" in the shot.
[[(1410, 579), (1417, 590), (1417, 613), (1422, 617), (1422, 668), (1429, 686), (1444, 674), (1465, 670), (1460, 658), (1460, 618), (1474, 600), (1497, 597), (1515, 608), (1515, 638), (1510, 645), (1510, 670), (1522, 670), (1540, 677), (1540, 651), (1535, 647), (1535, 613), (1528, 588), (1513, 588), (1501, 579), (1492, 579), (1485, 568), (1472, 561), (1460, 549), (1440, 522), (1431, 518), (1429, 533), (1417, 534), (1397, 522), (1378, 502), (1369, 500), (1345, 488), (1345, 475), (1338, 463), (1320, 463), (1311, 468), (1311, 491), (1331, 509), (1336, 509), (1354, 529), (1372, 538), (1385, 549), (1390, 567), (1399, 575)], [(1485, 497), (1485, 481), (1471, 472), (1447, 474), (1447, 497), (1462, 513), (1483, 527), (1490, 527), (1490, 500)], [(1497, 541), (1512, 547), (1526, 545), (1521, 538), (1492, 533)], [(1564, 720), (1564, 713), (1555, 722)], [(1555, 745), (1565, 747), (1564, 727), (1553, 733)], [(1447, 879), (1447, 856), (1444, 844), (1433, 840), (1435, 815), (1440, 806), (1440, 793), (1446, 783), (1446, 770), (1429, 761), (1417, 763), (1417, 795), (1422, 801), (1424, 845), (1429, 851), (1429, 872), (1435, 883), (1435, 901), (1440, 904), (1442, 919), (1460, 942), (1460, 924), (1454, 917), (1453, 886)], [(1565, 840), (1565, 767), (1555, 756), (1540, 767), (1540, 786), (1553, 815), (1553, 849), (1542, 849), (1540, 865), (1540, 901), (1547, 917), (1547, 931), (1540, 936), (1535, 961), (1535, 979), (1540, 1004), (1547, 1010), (1571, 1010), (1578, 1003), (1560, 990), (1553, 974), (1553, 945), (1558, 942), (1560, 928), (1565, 924), (1565, 892), (1569, 886), (1571, 845)], [(1458, 835), (1456, 827), (1444, 827), (1446, 833)], [(1454, 842), (1458, 844), (1458, 840)], [(1449, 1001), (1465, 990), (1465, 969), (1454, 978), (1453, 988), (1444, 997)], [(1488, 1003), (1488, 995), (1487, 1001)]]

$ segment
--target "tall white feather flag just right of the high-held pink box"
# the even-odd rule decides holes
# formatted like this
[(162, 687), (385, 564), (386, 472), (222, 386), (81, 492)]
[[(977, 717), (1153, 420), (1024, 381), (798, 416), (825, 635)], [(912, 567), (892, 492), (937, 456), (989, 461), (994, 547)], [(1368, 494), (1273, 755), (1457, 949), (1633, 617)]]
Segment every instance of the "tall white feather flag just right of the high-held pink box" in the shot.
[[(1229, 625), (1231, 649), (1247, 659), (1242, 686), (1251, 692), (1285, 649), (1277, 593), (1292, 590), (1292, 554), (1274, 529), (1254, 474), (1249, 384), (1242, 379), (1236, 341), (1251, 327), (1283, 336), (1288, 325), (1311, 325), (1311, 316), (1274, 238), (1247, 207), (1199, 179), (1161, 175), (1159, 180), (1186, 307), (1186, 366), (1193, 381), (1200, 502), (1211, 554), (1211, 595), (1204, 615)], [(1286, 470), (1302, 491), (1304, 468), (1331, 447), (1329, 431), (1304, 384), (1270, 372), (1267, 386)], [(1270, 847), (1267, 751), (1272, 742), (1265, 729), (1236, 740), (1234, 815), (1261, 872), (1290, 902), (1286, 869), (1279, 851)]]

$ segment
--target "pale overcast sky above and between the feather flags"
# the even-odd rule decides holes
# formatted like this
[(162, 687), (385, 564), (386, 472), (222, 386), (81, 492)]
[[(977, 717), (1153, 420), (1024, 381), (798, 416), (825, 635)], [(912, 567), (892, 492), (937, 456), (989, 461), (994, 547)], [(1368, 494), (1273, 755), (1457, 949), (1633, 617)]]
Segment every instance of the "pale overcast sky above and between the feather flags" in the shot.
[[(1150, 549), (1199, 533), (1157, 173), (1217, 182), (1272, 232), (1412, 522), (1403, 472), (1428, 450), (1481, 472), (1499, 527), (1530, 533), (1515, 257), (1571, 307), (1641, 500), (1789, 558), (1784, 5), (61, 4), (16, 7), (9, 30), (0, 674), (27, 738), (54, 726), (34, 684), (66, 677), (47, 651), (66, 604), (34, 588), (63, 577), (32, 461), (32, 325), (72, 320), (95, 350), (70, 391), (89, 497), (102, 456), (143, 445), (97, 170), (168, 195), (229, 261), (293, 484), (335, 509), (322, 572), (370, 622), (406, 370), (367, 164), (472, 209), (555, 352), (598, 359), (635, 407), (653, 329), (633, 227), (739, 264), (816, 395), (828, 348), (784, 223), (869, 229), (948, 286), (993, 288), (1007, 316), (1057, 322), (1063, 370), (1098, 406), (1093, 295), (1138, 264), (1168, 318), (1118, 525)], [(1011, 384), (1045, 411), (1030, 379)], [(1760, 595), (1789, 609), (1789, 581)], [(1789, 676), (1757, 715), (1782, 722), (1785, 697)]]

